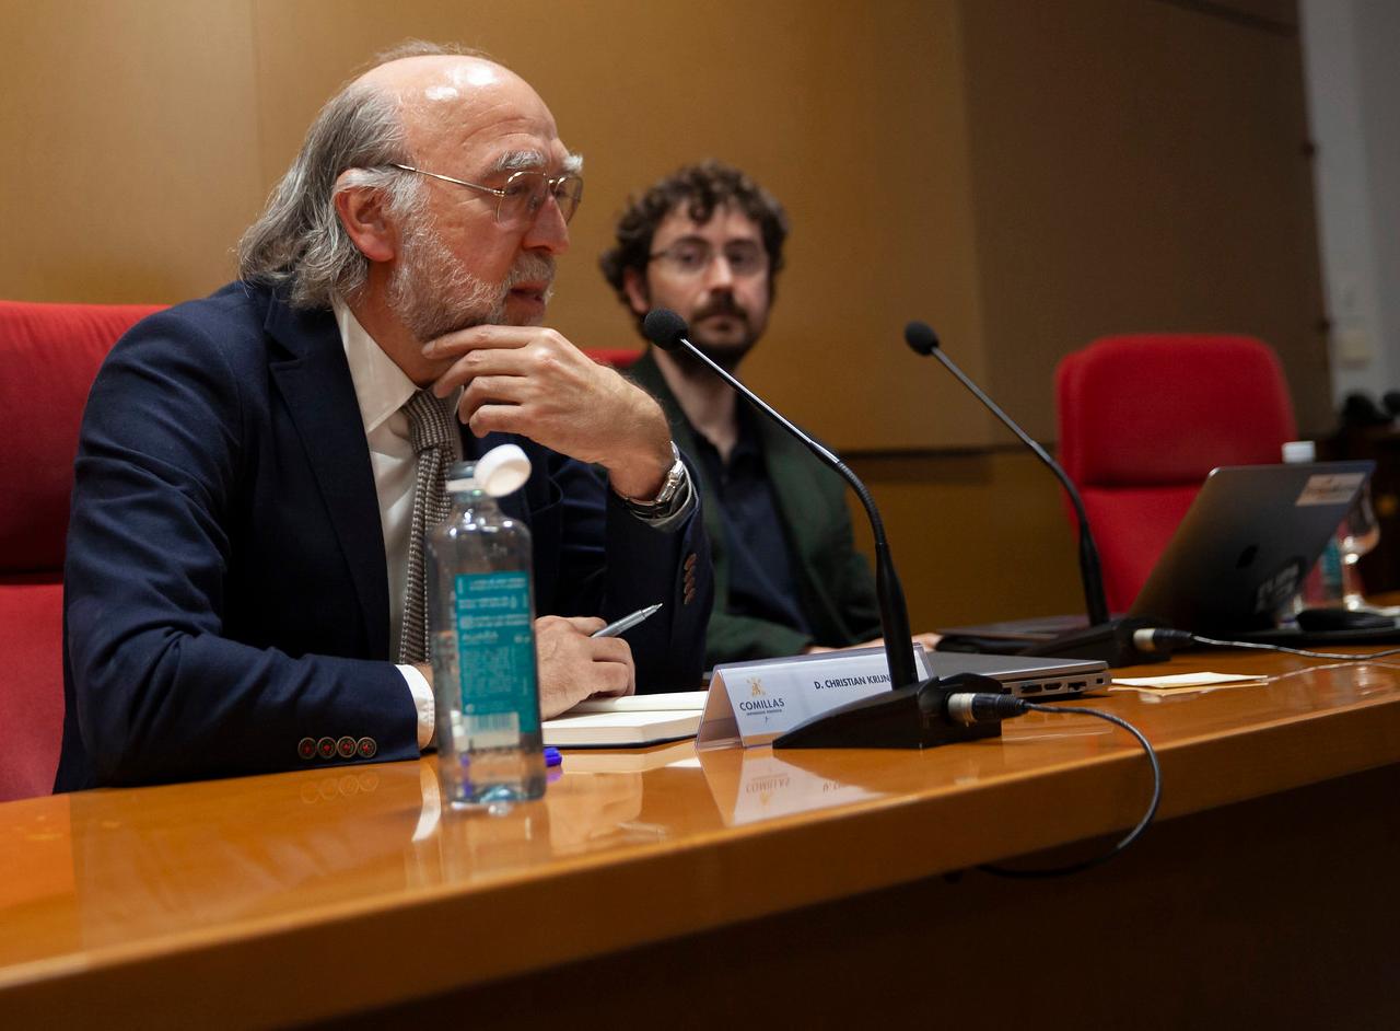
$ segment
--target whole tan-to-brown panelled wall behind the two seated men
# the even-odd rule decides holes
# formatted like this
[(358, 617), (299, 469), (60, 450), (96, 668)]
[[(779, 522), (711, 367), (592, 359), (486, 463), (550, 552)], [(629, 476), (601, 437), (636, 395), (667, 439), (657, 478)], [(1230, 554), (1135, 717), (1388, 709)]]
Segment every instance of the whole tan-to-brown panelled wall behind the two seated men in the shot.
[(636, 340), (596, 272), (626, 195), (714, 155), (794, 223), (745, 377), (868, 457), (920, 625), (1074, 608), (1049, 475), (902, 342), (949, 353), (1042, 438), (1100, 332), (1225, 328), (1326, 370), (1292, 0), (0, 0), (0, 296), (178, 301), (232, 247), (325, 98), (407, 36), (538, 85), (588, 193), (554, 325)]

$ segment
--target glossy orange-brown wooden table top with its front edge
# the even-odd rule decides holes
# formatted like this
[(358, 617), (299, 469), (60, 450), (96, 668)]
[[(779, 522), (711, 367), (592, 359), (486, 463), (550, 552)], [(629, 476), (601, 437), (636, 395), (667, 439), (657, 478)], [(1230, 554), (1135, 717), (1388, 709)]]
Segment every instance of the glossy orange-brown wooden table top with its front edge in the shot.
[[(1119, 672), (1186, 670), (1268, 679), (1084, 702), (1158, 748), (1159, 821), (1400, 762), (1400, 665)], [(1128, 734), (1030, 713), (927, 752), (566, 752), (504, 815), (442, 811), (431, 759), (8, 803), (0, 1025), (325, 1020), (1119, 835), (1149, 786)]]

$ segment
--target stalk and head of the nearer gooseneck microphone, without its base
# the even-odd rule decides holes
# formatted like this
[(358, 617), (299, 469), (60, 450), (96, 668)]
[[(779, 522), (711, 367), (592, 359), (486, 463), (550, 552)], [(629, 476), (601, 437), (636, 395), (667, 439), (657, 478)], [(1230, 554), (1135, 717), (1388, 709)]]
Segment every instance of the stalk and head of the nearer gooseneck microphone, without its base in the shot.
[(686, 321), (680, 315), (669, 308), (654, 308), (643, 319), (641, 331), (648, 340), (662, 350), (685, 350), (703, 363), (715, 375), (729, 384), (739, 396), (801, 440), (812, 454), (836, 469), (851, 485), (851, 489), (855, 490), (855, 494), (861, 499), (861, 504), (865, 507), (865, 516), (869, 518), (871, 532), (875, 537), (875, 591), (879, 598), (881, 628), (885, 633), (885, 657), (889, 661), (890, 686), (896, 689), (911, 686), (917, 681), (917, 674), (914, 671), (913, 635), (909, 630), (909, 609), (904, 605), (904, 590), (900, 587), (899, 576), (895, 573), (895, 563), (890, 559), (885, 524), (865, 485), (836, 454), (788, 422), (771, 405), (690, 343), (686, 339), (690, 326), (686, 325)]

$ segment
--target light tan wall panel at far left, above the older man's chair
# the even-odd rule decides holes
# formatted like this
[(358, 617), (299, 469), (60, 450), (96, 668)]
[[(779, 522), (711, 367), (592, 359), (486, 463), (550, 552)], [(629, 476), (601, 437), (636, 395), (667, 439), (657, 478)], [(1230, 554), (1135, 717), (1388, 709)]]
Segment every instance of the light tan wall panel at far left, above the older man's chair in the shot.
[(246, 0), (4, 3), (0, 297), (178, 301), (263, 186)]

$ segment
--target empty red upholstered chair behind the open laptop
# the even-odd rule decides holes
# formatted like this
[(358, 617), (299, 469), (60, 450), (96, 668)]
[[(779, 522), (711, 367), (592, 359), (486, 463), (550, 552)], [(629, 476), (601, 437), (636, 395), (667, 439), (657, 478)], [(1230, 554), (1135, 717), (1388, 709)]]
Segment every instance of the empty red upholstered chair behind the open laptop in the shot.
[(1060, 459), (1084, 494), (1109, 608), (1124, 612), (1217, 465), (1281, 459), (1296, 433), (1274, 352), (1250, 336), (1109, 336), (1056, 373)]

